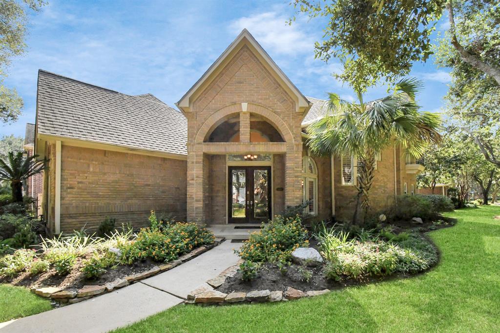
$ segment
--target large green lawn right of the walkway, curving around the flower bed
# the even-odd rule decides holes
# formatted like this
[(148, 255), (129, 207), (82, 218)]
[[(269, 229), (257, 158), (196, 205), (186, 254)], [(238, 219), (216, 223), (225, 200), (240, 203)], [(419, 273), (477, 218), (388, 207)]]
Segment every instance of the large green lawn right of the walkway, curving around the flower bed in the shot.
[(500, 207), (449, 213), (457, 225), (430, 233), (441, 261), (407, 279), (348, 287), (297, 301), (179, 305), (123, 332), (500, 331)]

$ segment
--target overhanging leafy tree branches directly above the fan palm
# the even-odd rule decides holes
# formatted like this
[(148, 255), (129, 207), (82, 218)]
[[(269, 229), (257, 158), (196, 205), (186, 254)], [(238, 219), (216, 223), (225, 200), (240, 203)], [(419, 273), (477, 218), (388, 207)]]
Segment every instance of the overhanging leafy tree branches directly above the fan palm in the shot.
[(339, 58), (343, 71), (335, 76), (356, 90), (364, 90), (382, 78), (395, 81), (407, 75), (412, 62), (425, 61), (432, 54), (430, 33), (445, 1), (291, 3), (309, 18), (326, 17), (324, 39), (314, 45), (315, 57), (325, 61)]

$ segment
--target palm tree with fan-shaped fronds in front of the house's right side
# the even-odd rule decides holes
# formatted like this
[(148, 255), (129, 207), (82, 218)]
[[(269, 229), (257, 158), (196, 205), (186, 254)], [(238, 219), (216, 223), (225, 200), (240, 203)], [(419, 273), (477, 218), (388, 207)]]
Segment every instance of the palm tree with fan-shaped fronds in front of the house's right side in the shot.
[(428, 142), (437, 142), (440, 116), (420, 112), (415, 95), (422, 83), (402, 79), (391, 95), (365, 103), (360, 91), (357, 101), (348, 102), (329, 93), (330, 113), (307, 127), (307, 144), (316, 154), (349, 154), (357, 157), (357, 195), (352, 222), (362, 224), (369, 209), (375, 156), (391, 144), (420, 157)]

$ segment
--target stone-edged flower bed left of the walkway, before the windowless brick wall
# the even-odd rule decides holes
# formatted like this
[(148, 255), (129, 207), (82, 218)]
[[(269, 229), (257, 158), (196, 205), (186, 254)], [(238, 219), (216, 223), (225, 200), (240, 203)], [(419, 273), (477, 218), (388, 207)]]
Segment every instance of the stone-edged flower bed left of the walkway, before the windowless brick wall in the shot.
[(154, 212), (149, 221), (137, 234), (75, 232), (43, 239), (37, 250), (18, 249), (0, 257), (0, 282), (75, 302), (170, 269), (221, 240), (195, 223), (158, 221)]

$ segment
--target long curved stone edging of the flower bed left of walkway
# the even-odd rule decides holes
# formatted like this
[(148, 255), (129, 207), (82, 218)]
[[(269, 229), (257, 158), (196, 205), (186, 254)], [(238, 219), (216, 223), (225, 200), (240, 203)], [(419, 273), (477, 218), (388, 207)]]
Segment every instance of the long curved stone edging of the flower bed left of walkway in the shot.
[(82, 300), (122, 288), (129, 284), (140, 281), (144, 278), (172, 269), (173, 267), (178, 266), (179, 264), (186, 262), (198, 256), (199, 254), (206, 252), (210, 248), (220, 244), (222, 241), (224, 241), (224, 239), (225, 239), (224, 237), (216, 237), (213, 243), (196, 247), (189, 253), (182, 254), (175, 260), (159, 264), (157, 266), (153, 266), (152, 268), (137, 274), (123, 276), (122, 278), (117, 278), (114, 281), (108, 282), (104, 285), (84, 285), (77, 291), (63, 290), (53, 286), (32, 287), (31, 292), (42, 297), (51, 298), (54, 301), (57, 301), (61, 305), (77, 303)]

